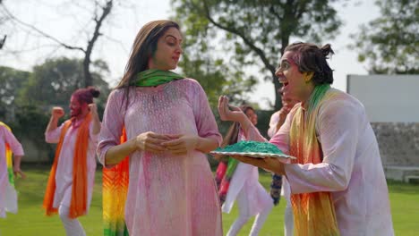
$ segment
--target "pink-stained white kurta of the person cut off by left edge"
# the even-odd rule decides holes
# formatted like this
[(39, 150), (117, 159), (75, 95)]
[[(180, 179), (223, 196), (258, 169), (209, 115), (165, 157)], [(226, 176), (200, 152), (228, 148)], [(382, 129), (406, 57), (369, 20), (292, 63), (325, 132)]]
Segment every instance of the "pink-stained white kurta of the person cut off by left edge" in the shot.
[(5, 217), (5, 211), (17, 211), (17, 198), (13, 187), (9, 183), (5, 158), (5, 143), (9, 144), (13, 155), (23, 156), (21, 143), (13, 133), (0, 125), (0, 217)]

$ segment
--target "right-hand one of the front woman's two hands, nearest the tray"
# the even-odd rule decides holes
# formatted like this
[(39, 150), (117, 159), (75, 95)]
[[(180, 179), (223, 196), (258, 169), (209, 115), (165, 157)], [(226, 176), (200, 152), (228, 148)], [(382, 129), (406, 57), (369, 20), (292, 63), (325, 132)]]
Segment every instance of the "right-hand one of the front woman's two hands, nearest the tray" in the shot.
[(186, 155), (189, 151), (194, 150), (199, 144), (199, 137), (195, 135), (178, 134), (167, 135), (170, 139), (162, 143), (173, 155)]

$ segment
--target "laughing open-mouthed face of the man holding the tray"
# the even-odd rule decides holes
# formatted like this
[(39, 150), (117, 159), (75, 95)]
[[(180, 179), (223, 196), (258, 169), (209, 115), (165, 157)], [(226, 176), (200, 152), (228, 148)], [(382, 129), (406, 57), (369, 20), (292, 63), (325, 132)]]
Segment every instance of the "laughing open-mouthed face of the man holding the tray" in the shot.
[(288, 99), (304, 101), (307, 98), (307, 93), (311, 92), (312, 81), (304, 80), (304, 73), (298, 71), (298, 66), (292, 58), (293, 55), (294, 52), (291, 51), (286, 51), (282, 55), (275, 74), (278, 76), (279, 82), (283, 84), (282, 91)]

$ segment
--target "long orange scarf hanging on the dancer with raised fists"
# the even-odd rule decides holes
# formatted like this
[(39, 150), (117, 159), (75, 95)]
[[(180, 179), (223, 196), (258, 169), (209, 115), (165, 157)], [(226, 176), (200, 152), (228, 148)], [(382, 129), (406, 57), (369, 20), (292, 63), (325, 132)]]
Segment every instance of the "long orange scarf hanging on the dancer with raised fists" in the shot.
[[(58, 209), (53, 206), (54, 195), (56, 193), (56, 166), (58, 158), (60, 157), (61, 148), (63, 147), (65, 133), (70, 128), (73, 119), (64, 122), (63, 130), (60, 134), (58, 145), (56, 146), (56, 157), (54, 164), (49, 173), (47, 190), (45, 192), (43, 207), (46, 210), (46, 215), (53, 215), (58, 212)], [(72, 200), (70, 203), (70, 218), (77, 218), (80, 215), (87, 213), (87, 149), (89, 146), (89, 131), (90, 131), (91, 114), (87, 114), (81, 122), (79, 131), (77, 131), (77, 139), (74, 147), (73, 158), (73, 187)]]

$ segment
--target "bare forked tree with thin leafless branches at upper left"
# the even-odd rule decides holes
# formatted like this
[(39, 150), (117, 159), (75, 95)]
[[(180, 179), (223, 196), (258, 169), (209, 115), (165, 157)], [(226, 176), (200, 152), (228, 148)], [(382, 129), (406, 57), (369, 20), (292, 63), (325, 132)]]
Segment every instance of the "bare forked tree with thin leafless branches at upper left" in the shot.
[[(87, 46), (75, 46), (71, 43), (63, 42), (62, 40), (55, 38), (52, 34), (44, 32), (43, 30), (39, 30), (37, 27), (23, 22), (19, 20), (16, 16), (14, 16), (10, 11), (3, 5), (4, 13), (6, 13), (7, 19), (10, 19), (11, 21), (18, 23), (20, 25), (25, 26), (26, 28), (30, 29), (31, 31), (34, 31), (38, 33), (41, 37), (49, 38), (52, 41), (54, 41), (59, 46), (64, 46), (64, 48), (70, 49), (70, 50), (78, 50), (81, 51), (81, 53), (84, 55), (83, 58), (83, 78), (84, 80), (80, 84), (81, 87), (88, 87), (91, 86), (93, 83), (93, 77), (92, 73), (90, 72), (90, 64), (91, 64), (91, 54), (93, 52), (93, 47), (95, 46), (96, 42), (98, 41), (98, 38), (101, 36), (100, 29), (104, 23), (104, 21), (107, 19), (107, 16), (111, 13), (112, 7), (114, 4), (114, 0), (95, 0), (91, 1), (88, 4), (94, 4), (94, 11), (93, 11), (93, 19), (94, 21), (94, 28), (92, 30), (92, 33), (90, 33), (90, 38), (88, 39)], [(1, 2), (0, 2), (1, 4)], [(88, 10), (89, 11), (89, 10)], [(5, 39), (5, 38), (4, 38)]]

